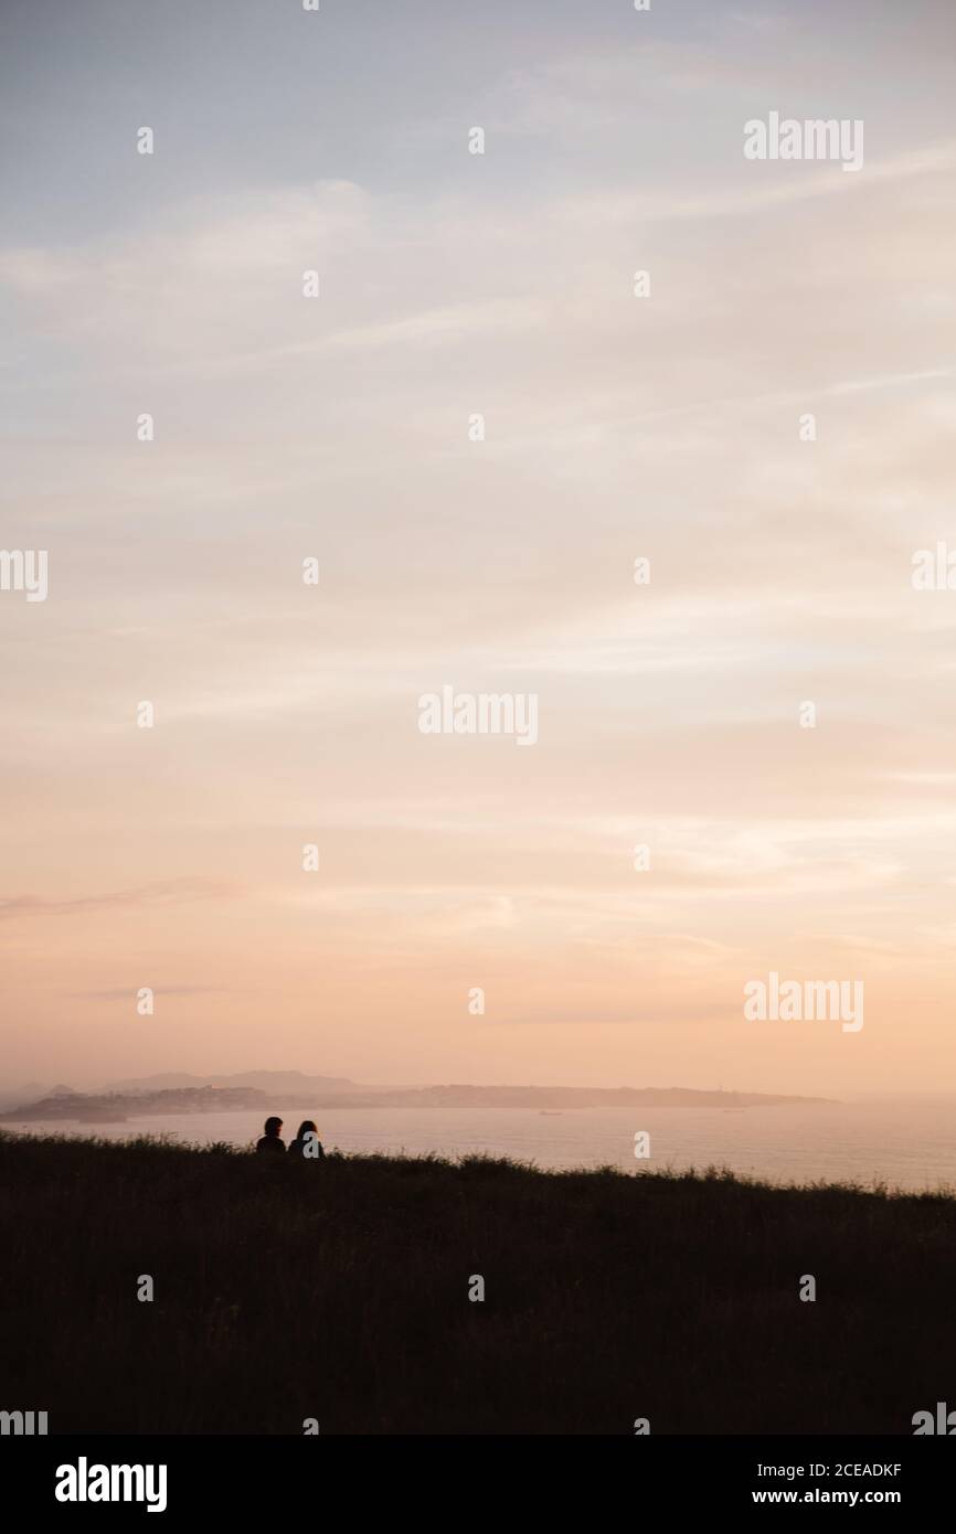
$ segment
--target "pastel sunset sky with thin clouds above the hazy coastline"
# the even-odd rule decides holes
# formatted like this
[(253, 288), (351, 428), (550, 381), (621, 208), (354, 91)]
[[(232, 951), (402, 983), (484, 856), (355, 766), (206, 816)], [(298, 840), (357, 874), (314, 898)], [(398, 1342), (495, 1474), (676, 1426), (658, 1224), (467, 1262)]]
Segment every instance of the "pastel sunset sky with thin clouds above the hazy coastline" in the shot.
[[(953, 1089), (951, 0), (8, 0), (0, 58), (3, 1083)], [(865, 1026), (744, 1022), (772, 969)]]

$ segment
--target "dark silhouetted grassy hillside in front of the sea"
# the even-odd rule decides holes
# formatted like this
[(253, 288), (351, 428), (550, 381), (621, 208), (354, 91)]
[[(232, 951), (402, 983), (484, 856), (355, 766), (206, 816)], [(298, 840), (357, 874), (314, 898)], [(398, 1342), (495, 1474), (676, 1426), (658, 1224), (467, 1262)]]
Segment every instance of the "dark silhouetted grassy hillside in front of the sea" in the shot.
[(956, 1405), (945, 1193), (11, 1135), (0, 1189), (0, 1404), (51, 1433), (908, 1434)]

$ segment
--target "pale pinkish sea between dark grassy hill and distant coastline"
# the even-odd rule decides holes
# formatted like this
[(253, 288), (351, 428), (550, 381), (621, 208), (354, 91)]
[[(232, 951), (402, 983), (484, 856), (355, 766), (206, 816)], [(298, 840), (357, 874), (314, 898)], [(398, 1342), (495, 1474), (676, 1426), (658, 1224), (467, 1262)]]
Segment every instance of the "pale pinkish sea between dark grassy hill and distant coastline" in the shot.
[[(288, 1141), (301, 1109), (284, 1114)], [(773, 1183), (884, 1181), (910, 1190), (956, 1192), (956, 1101), (818, 1103), (789, 1108), (575, 1108), (542, 1114), (520, 1108), (339, 1108), (312, 1115), (327, 1150), (387, 1150), (450, 1157), (508, 1155), (539, 1167), (729, 1167)], [(247, 1146), (262, 1132), (259, 1114), (146, 1115), (123, 1124), (8, 1123), (32, 1134), (124, 1140), (169, 1135)], [(651, 1135), (651, 1158), (635, 1160), (634, 1135)]]

